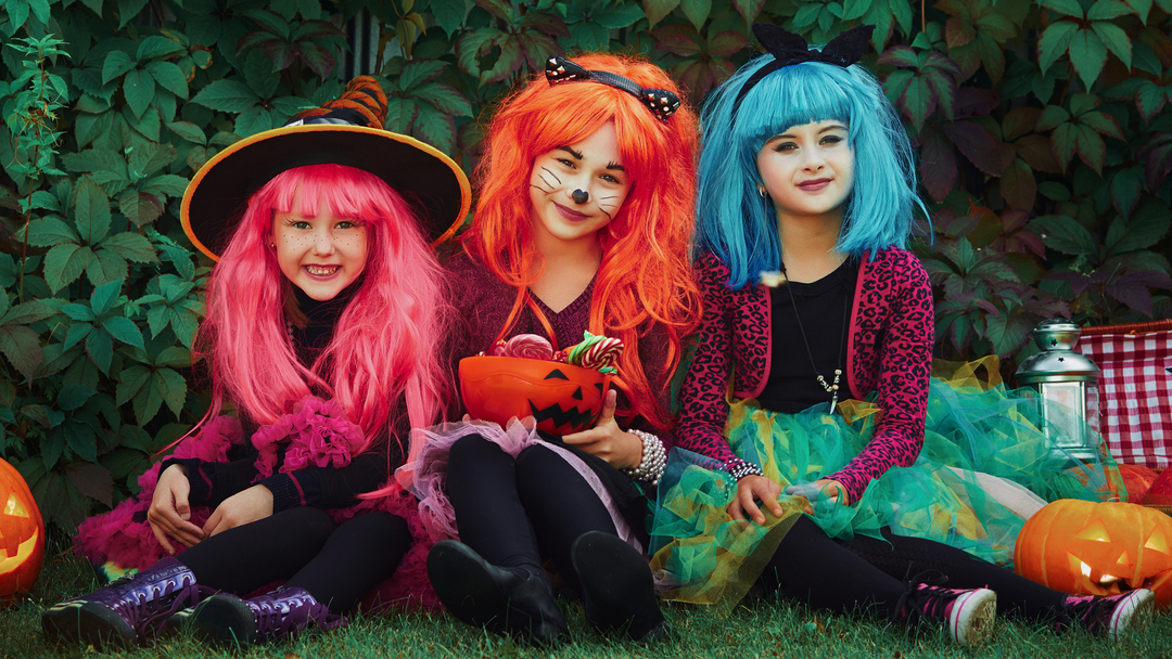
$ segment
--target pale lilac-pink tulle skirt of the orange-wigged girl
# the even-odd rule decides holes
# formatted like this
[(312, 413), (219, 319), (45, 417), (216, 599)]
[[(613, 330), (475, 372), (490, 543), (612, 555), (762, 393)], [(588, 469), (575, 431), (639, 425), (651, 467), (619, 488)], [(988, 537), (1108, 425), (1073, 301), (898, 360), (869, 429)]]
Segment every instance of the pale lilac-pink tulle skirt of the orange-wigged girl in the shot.
[[(611, 521), (619, 531), (619, 537), (628, 544), (643, 551), (643, 545), (631, 530), (631, 524), (619, 512), (614, 503), (614, 497), (602, 485), (590, 466), (573, 452), (543, 440), (533, 427), (533, 419), (526, 418), (517, 420), (510, 419), (505, 427), (492, 421), (462, 421), (456, 424), (441, 424), (430, 428), (415, 428), (411, 431), (411, 446), (422, 446), (418, 449), (415, 461), (400, 467), (398, 482), (409, 482), (410, 489), (420, 500), (420, 513), (422, 526), (427, 531), (427, 537), (431, 544), (441, 540), (456, 540), (459, 530), (456, 528), (456, 515), (451, 502), (444, 493), (444, 482), (448, 478), (448, 452), (456, 440), (478, 434), (484, 439), (499, 446), (505, 453), (517, 457), (523, 448), (539, 444), (554, 452), (563, 460), (578, 472), (598, 495), (602, 504), (611, 514)], [(414, 453), (415, 451), (413, 451)], [(418, 537), (418, 536), (416, 536)]]

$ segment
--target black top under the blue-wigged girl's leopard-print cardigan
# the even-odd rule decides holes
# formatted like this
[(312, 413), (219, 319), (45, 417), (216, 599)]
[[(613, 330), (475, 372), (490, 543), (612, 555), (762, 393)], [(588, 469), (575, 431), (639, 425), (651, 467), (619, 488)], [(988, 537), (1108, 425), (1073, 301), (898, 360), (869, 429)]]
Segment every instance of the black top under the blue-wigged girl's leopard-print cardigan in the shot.
[[(818, 382), (818, 376), (832, 385), (834, 369), (843, 370), (838, 399), (851, 397), (846, 382), (846, 338), (858, 275), (859, 261), (852, 258), (816, 282), (788, 282), (769, 291), (772, 357), (765, 389), (757, 397), (763, 409), (792, 414), (830, 403), (831, 393)], [(809, 351), (802, 341), (803, 330)]]

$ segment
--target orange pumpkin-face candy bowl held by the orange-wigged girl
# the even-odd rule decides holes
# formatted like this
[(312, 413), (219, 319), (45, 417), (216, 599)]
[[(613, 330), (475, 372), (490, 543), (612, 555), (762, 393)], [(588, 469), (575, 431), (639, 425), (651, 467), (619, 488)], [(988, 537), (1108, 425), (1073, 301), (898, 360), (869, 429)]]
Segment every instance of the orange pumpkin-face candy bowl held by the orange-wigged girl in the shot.
[(611, 376), (594, 369), (523, 357), (466, 357), (459, 386), (468, 413), (500, 425), (533, 417), (537, 430), (570, 434), (587, 430), (602, 412)]

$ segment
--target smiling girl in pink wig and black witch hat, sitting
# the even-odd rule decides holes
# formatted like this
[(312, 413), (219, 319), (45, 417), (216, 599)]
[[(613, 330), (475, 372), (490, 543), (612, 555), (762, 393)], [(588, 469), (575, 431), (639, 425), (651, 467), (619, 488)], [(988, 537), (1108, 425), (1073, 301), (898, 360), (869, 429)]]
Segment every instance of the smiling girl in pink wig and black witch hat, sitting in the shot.
[(357, 78), (196, 174), (184, 228), (218, 260), (196, 344), (211, 409), (137, 499), (81, 526), (80, 554), (139, 571), (50, 607), (47, 637), (142, 645), (173, 626), (243, 645), (342, 625), (363, 597), (435, 605), (390, 473), (451, 398), (429, 243), (470, 194), (445, 156), (381, 130), (386, 105)]

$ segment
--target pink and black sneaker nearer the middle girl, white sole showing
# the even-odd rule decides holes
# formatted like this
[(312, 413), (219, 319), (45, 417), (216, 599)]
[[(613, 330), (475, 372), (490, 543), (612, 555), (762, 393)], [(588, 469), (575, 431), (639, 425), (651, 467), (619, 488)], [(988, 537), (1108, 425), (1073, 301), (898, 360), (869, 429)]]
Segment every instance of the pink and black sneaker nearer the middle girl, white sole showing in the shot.
[(938, 624), (960, 645), (984, 643), (997, 615), (997, 593), (986, 588), (961, 590), (909, 584), (900, 599), (895, 619), (908, 626)]

